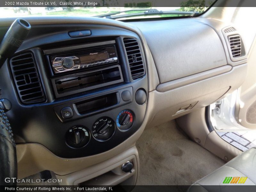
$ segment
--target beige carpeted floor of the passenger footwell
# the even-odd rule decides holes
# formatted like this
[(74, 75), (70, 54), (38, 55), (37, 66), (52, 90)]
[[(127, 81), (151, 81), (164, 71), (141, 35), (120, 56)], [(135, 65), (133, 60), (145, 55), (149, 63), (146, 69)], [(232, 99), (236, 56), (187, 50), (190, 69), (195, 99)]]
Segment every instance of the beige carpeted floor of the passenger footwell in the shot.
[(225, 164), (190, 140), (174, 120), (146, 128), (136, 146), (140, 158), (136, 185), (191, 185)]

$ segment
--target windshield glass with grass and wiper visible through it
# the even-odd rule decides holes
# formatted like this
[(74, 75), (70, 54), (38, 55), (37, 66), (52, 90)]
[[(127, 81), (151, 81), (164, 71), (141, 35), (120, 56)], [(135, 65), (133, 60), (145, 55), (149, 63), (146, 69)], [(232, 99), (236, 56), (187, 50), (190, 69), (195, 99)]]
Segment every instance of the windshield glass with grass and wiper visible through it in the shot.
[[(98, 4), (88, 7), (76, 6), (72, 0), (66, 0), (65, 2), (71, 2), (71, 4), (69, 4), (70, 6), (63, 7), (63, 3), (59, 3), (55, 6), (47, 5), (41, 7), (16, 7), (13, 5), (10, 7), (0, 7), (0, 17), (93, 16), (116, 20), (125, 20), (128, 18), (183, 17), (201, 14), (212, 4), (212, 1), (188, 0), (180, 2), (180, 7), (154, 7), (152, 2), (142, 0), (142, 2), (124, 3), (124, 7), (116, 7), (116, 4), (113, 2), (118, 1), (100, 0)], [(112, 2), (113, 4), (110, 4), (109, 2)]]

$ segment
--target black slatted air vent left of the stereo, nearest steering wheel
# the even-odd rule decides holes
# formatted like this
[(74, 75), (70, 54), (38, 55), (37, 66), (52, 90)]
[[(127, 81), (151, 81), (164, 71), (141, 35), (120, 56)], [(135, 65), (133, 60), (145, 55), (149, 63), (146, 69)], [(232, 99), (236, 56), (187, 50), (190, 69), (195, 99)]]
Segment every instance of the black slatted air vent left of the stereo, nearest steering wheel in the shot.
[(45, 101), (42, 83), (32, 53), (20, 54), (10, 60), (12, 74), (20, 100), (24, 104)]

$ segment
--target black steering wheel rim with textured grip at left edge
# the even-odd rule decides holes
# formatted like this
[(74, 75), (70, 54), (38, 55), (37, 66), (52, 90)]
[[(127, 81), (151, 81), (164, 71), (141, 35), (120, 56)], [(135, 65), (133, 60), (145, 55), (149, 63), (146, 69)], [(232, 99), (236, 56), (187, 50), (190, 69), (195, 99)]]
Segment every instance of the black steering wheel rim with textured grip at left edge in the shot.
[[(2, 103), (0, 103), (0, 154), (0, 185), (14, 185), (15, 182), (11, 178), (17, 178), (16, 146)], [(10, 182), (5, 182), (6, 178)]]

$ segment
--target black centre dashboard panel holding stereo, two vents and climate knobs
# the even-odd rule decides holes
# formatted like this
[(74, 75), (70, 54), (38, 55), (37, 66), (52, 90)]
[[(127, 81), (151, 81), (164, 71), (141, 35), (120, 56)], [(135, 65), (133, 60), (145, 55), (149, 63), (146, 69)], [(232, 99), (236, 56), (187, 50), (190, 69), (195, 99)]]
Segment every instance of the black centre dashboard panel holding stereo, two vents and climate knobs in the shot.
[(90, 29), (86, 37), (60, 32), (58, 38), (66, 39), (58, 43), (56, 34), (48, 34), (10, 59), (18, 102), (10, 100), (20, 111), (12, 123), (16, 143), (40, 143), (63, 158), (85, 157), (115, 148), (140, 128), (148, 97), (140, 38)]

